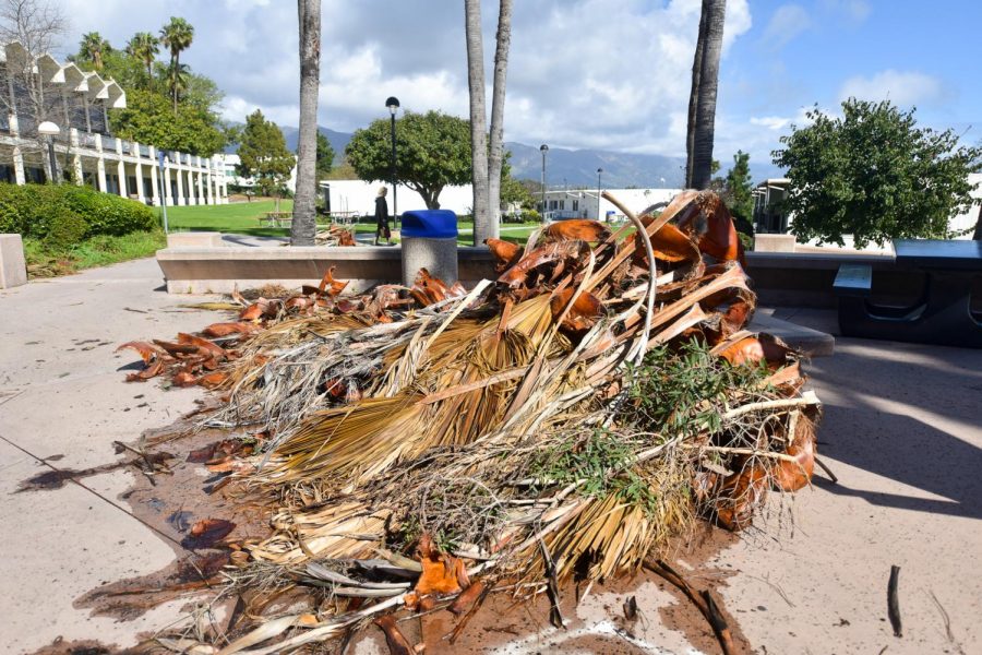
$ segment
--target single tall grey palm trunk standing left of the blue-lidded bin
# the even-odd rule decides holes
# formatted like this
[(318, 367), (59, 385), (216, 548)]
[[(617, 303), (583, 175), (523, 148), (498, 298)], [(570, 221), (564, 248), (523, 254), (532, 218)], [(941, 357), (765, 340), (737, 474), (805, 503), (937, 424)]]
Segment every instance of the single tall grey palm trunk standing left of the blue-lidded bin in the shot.
[(321, 0), (297, 0), (300, 17), (300, 133), (291, 246), (313, 246), (316, 234), (318, 92), (321, 80)]

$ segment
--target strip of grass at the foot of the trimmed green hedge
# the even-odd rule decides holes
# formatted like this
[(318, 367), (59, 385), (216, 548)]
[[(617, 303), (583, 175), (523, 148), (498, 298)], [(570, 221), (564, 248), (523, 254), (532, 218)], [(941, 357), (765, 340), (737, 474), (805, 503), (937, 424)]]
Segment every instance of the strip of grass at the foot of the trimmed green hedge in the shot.
[(153, 257), (167, 246), (160, 230), (137, 231), (122, 237), (98, 236), (70, 248), (51, 248), (39, 239), (24, 239), (24, 258), (29, 277), (55, 277), (83, 269), (107, 266), (133, 259)]

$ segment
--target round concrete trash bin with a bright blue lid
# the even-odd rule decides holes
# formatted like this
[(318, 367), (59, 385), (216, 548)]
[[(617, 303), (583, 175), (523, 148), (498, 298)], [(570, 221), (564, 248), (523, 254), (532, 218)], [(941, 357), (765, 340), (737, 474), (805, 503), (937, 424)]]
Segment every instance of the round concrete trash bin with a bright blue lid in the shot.
[(447, 285), (457, 282), (457, 215), (450, 210), (403, 213), (403, 284), (411, 286), (420, 269)]

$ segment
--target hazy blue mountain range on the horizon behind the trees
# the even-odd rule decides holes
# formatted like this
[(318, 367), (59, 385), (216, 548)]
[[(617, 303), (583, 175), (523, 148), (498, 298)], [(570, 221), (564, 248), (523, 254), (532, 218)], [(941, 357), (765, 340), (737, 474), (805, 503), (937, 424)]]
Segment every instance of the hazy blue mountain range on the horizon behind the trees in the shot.
[[(287, 148), (297, 152), (299, 130), (292, 126), (280, 126)], [(340, 164), (345, 155), (345, 146), (351, 141), (351, 134), (337, 132), (319, 126), (318, 131), (327, 136), (334, 148), (335, 164)], [(238, 146), (226, 148), (233, 153)], [(508, 142), (505, 148), (512, 152), (512, 176), (531, 180), (542, 177), (542, 154), (535, 145)], [(546, 177), (550, 187), (597, 187), (597, 169), (602, 168), (601, 184), (607, 188), (669, 188), (678, 189), (684, 179), (683, 157), (666, 157), (663, 155), (634, 155), (602, 150), (566, 150), (551, 147), (546, 156)], [(729, 162), (719, 175), (724, 175)], [(781, 171), (769, 163), (751, 162), (754, 181), (781, 177)], [(662, 181), (663, 180), (663, 181)]]

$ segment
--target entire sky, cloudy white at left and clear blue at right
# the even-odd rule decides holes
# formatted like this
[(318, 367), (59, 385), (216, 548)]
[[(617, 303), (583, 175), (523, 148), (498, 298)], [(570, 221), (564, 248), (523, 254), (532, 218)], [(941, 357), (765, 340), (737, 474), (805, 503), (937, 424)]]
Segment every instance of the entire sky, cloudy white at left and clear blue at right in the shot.
[[(297, 124), (296, 3), (285, 0), (53, 0), (71, 20), (64, 51), (98, 31), (117, 47), (187, 17), (181, 57), (226, 93), (223, 114), (255, 108)], [(134, 7), (140, 11), (133, 11)], [(922, 123), (982, 141), (982, 1), (729, 0), (716, 156), (770, 151), (815, 103), (847, 95), (918, 106)], [(484, 0), (490, 73), (498, 2)], [(462, 0), (322, 0), (320, 122), (340, 131), (403, 107), (467, 116)], [(515, 0), (505, 139), (682, 155), (699, 0)], [(62, 52), (63, 53), (63, 52)], [(490, 82), (490, 74), (489, 74)]]

